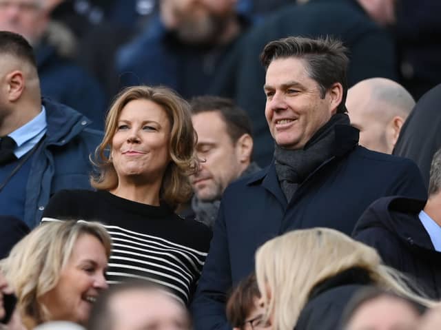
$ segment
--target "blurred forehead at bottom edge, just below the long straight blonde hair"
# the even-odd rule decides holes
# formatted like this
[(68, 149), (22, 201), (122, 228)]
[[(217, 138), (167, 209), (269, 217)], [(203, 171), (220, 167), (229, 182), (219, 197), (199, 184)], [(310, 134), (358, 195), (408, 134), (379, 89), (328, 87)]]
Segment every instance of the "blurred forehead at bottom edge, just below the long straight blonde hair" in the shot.
[(382, 296), (362, 304), (346, 330), (415, 330), (419, 318), (407, 302)]

